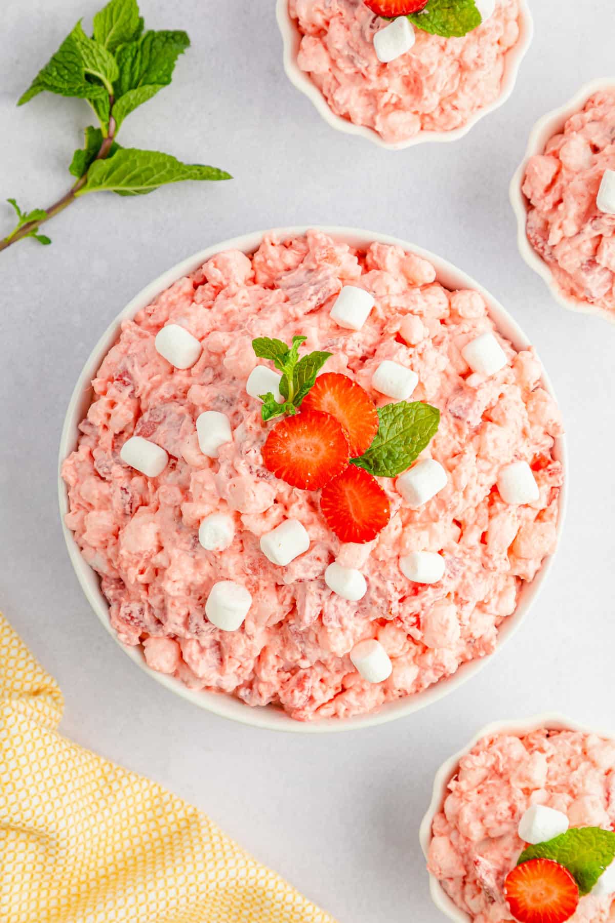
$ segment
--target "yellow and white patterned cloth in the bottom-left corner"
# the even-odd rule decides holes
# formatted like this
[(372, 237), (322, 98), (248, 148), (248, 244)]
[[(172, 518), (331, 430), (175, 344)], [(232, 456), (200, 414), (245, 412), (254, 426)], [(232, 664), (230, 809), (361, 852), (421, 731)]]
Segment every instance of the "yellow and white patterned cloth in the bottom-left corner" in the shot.
[(1, 923), (335, 923), (160, 785), (58, 734), (0, 616)]

